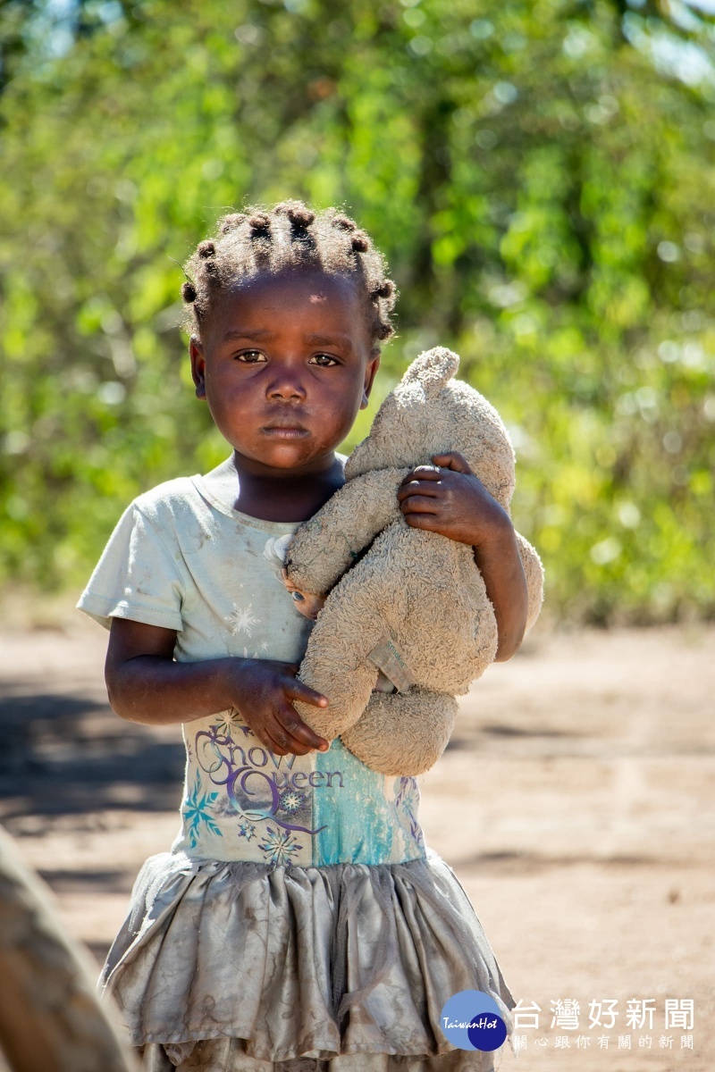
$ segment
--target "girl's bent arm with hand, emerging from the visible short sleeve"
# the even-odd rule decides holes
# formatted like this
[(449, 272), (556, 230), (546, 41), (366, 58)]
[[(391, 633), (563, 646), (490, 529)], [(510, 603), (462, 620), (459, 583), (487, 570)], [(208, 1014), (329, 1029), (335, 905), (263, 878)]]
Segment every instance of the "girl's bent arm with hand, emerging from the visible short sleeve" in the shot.
[(111, 620), (105, 681), (109, 703), (122, 718), (157, 726), (235, 708), (278, 756), (328, 748), (291, 702), (328, 705), (324, 696), (295, 678), (297, 666), (232, 657), (175, 662), (175, 642), (174, 629)]

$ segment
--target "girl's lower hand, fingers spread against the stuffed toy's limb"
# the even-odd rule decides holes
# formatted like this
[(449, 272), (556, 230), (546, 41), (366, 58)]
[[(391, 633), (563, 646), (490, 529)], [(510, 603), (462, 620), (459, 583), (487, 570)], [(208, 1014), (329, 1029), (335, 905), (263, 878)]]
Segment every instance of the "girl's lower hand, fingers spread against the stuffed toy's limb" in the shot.
[(291, 753), (304, 756), (330, 747), (325, 738), (314, 733), (301, 719), (292, 700), (327, 708), (328, 701), (321, 693), (298, 681), (295, 662), (274, 662), (271, 659), (234, 659), (232, 672), (236, 698), (234, 708), (251, 727), (258, 740), (277, 756)]

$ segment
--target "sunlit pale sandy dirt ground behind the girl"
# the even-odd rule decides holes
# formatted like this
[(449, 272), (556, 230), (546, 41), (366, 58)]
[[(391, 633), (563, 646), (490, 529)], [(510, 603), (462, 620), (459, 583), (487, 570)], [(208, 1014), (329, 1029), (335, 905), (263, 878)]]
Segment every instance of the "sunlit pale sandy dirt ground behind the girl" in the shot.
[[(101, 961), (178, 829), (179, 729), (111, 714), (91, 623), (8, 631), (2, 653), (0, 821)], [(714, 697), (715, 628), (537, 627), (463, 701), (420, 815), (515, 998), (540, 1008), (504, 1072), (715, 1069)], [(653, 999), (652, 1029), (629, 1025), (632, 999)], [(558, 1000), (578, 1027), (552, 1027)]]

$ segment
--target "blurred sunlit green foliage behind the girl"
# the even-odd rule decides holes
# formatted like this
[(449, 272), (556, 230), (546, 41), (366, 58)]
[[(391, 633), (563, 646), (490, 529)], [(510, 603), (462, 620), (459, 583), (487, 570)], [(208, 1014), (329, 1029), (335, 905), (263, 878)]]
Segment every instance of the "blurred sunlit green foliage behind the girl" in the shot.
[[(715, 613), (715, 3), (0, 6), (0, 576), (81, 585), (227, 452), (179, 264), (226, 208), (341, 204), (505, 418), (552, 612)], [(362, 415), (355, 441), (367, 431)]]

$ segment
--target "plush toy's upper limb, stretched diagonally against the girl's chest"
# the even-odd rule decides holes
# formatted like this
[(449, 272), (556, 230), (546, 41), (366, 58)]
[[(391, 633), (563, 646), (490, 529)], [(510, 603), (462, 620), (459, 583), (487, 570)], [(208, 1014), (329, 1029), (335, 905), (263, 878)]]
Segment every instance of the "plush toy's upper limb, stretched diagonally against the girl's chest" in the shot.
[(324, 595), (377, 533), (400, 517), (398, 488), (408, 468), (384, 468), (348, 480), (298, 528), (285, 569), (302, 592)]

